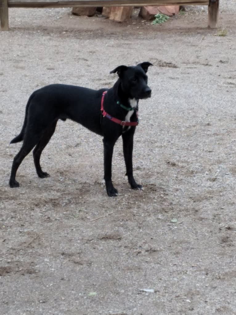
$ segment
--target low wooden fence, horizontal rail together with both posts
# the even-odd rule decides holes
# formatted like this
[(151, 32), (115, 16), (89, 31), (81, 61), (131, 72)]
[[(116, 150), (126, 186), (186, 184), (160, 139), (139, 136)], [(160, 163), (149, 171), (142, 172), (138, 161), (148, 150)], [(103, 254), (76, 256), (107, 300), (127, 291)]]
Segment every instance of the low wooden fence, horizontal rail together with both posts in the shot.
[(1, 30), (9, 30), (8, 8), (124, 7), (208, 5), (208, 27), (216, 28), (219, 0), (0, 0)]

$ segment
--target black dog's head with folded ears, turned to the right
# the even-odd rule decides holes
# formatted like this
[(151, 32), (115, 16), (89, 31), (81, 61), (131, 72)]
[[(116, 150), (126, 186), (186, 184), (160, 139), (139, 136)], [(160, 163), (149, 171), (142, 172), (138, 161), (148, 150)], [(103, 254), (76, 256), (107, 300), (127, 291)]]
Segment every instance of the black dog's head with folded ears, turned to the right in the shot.
[(136, 100), (151, 97), (152, 90), (148, 86), (148, 67), (150, 62), (142, 62), (137, 66), (118, 66), (110, 73), (117, 72), (121, 80), (121, 88), (129, 98)]

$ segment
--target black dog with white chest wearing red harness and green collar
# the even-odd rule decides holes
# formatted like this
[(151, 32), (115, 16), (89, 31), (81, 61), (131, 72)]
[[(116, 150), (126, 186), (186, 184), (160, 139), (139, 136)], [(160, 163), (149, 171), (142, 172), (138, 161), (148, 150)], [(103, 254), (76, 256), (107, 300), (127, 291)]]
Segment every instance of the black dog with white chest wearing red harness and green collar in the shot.
[(19, 153), (14, 157), (10, 187), (18, 187), (16, 171), (22, 160), (34, 148), (34, 164), (39, 177), (48, 177), (42, 171), (40, 156), (51, 139), (58, 119), (67, 118), (80, 123), (103, 136), (104, 180), (108, 196), (117, 196), (111, 180), (113, 147), (122, 135), (126, 175), (133, 189), (142, 189), (133, 178), (133, 135), (138, 124), (138, 100), (151, 97), (146, 72), (150, 62), (137, 66), (119, 66), (119, 78), (110, 89), (92, 90), (83, 87), (52, 84), (39, 89), (30, 96), (25, 110), (25, 120), (20, 135), (11, 143), (23, 140)]

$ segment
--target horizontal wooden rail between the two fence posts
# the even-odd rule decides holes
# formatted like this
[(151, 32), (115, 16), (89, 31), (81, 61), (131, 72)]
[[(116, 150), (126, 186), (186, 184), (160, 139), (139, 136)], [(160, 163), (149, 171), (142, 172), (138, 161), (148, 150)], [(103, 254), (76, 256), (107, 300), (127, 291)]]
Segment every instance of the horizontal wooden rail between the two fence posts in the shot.
[(8, 0), (9, 8), (123, 7), (208, 5), (209, 0)]

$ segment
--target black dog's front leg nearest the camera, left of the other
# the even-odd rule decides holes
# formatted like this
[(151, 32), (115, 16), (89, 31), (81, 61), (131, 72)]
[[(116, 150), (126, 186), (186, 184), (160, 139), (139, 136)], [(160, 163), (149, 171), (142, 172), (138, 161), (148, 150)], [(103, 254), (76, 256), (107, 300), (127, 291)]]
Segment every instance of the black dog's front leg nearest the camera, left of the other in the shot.
[(109, 197), (118, 196), (118, 191), (112, 184), (111, 180), (111, 163), (112, 154), (115, 142), (107, 139), (103, 139), (104, 146), (104, 180), (106, 184), (106, 190)]

